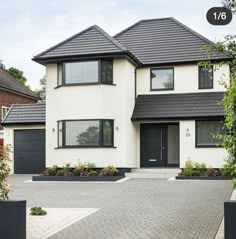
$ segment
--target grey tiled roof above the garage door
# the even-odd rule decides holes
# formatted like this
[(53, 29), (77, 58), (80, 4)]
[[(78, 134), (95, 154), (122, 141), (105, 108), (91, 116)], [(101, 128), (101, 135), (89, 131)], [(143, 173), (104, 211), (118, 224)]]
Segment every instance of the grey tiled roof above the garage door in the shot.
[(2, 121), (2, 125), (8, 124), (27, 124), (45, 123), (46, 108), (45, 104), (21, 104), (12, 105), (7, 115)]

